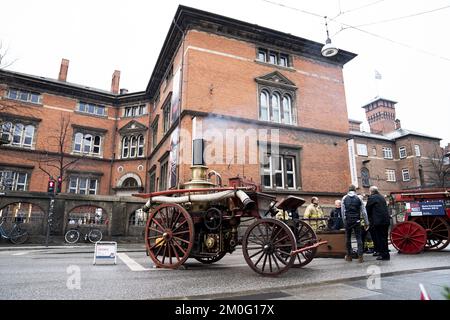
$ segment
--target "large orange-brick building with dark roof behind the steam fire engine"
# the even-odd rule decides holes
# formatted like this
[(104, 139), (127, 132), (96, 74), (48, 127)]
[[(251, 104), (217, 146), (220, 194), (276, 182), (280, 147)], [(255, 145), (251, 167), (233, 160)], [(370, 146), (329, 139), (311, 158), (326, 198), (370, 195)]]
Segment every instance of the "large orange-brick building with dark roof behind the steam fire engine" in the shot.
[(120, 89), (119, 71), (110, 91), (69, 83), (65, 59), (58, 79), (0, 70), (0, 171), (18, 192), (45, 192), (49, 175), (82, 196), (164, 190), (190, 180), (200, 136), (225, 183), (331, 204), (350, 182), (342, 68), (355, 54), (322, 46), (180, 6), (145, 91)]

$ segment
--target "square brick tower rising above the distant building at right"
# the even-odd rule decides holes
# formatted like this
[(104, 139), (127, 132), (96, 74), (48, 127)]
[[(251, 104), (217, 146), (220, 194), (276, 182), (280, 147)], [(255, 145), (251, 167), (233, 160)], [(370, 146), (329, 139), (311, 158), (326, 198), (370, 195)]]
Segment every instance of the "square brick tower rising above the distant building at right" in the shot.
[(366, 118), (369, 122), (372, 133), (385, 134), (396, 129), (395, 126), (395, 104), (397, 102), (376, 98), (376, 100), (366, 104)]

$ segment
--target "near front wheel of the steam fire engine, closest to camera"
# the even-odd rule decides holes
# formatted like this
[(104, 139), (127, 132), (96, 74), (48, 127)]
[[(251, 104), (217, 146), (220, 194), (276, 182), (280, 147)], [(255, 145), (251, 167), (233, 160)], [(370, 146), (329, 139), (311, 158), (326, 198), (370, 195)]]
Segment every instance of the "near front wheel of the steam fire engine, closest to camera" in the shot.
[(242, 239), (242, 252), (247, 264), (257, 273), (275, 276), (294, 263), (290, 253), (297, 249), (294, 234), (283, 222), (260, 219), (251, 224)]

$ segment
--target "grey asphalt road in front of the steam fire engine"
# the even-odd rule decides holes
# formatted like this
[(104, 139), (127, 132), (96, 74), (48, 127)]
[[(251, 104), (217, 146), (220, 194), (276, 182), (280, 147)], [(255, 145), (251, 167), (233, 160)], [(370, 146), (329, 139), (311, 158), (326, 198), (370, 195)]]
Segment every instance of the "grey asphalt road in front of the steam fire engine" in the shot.
[[(237, 250), (214, 265), (154, 268), (142, 246), (119, 245), (117, 265), (93, 265), (93, 246), (0, 248), (0, 299), (432, 299), (450, 286), (450, 251), (392, 253), (390, 261), (316, 258), (276, 278), (262, 277)], [(379, 274), (379, 276), (378, 276)]]

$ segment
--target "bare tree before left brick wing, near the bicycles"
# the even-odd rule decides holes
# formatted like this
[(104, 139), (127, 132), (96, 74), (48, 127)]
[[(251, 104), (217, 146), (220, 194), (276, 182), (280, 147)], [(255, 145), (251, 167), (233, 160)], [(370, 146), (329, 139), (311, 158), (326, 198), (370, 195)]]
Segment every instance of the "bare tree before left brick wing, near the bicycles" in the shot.
[(51, 149), (45, 149), (43, 154), (38, 155), (39, 169), (45, 172), (50, 178), (55, 177), (56, 173), (62, 178), (62, 181), (66, 181), (68, 176), (67, 170), (73, 169), (76, 163), (83, 157), (72, 157), (66, 153), (66, 147), (70, 145), (69, 136), (70, 116), (65, 116), (61, 113), (60, 121), (58, 124), (58, 130), (55, 135), (49, 136), (47, 145)]

